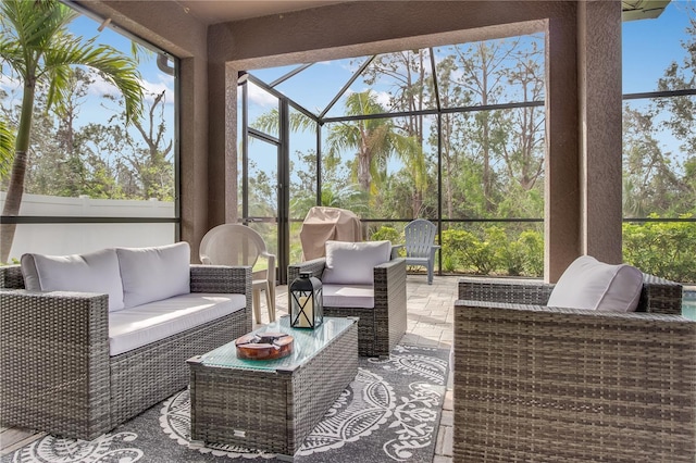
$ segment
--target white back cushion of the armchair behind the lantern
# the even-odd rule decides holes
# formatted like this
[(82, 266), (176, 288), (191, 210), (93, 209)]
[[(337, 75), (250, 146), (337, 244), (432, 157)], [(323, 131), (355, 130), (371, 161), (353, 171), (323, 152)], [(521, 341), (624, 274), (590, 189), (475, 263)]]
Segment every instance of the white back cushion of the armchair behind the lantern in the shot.
[(390, 241), (326, 241), (326, 267), (322, 281), (373, 285), (375, 265), (388, 262), (390, 254)]

